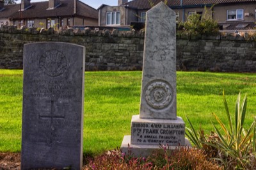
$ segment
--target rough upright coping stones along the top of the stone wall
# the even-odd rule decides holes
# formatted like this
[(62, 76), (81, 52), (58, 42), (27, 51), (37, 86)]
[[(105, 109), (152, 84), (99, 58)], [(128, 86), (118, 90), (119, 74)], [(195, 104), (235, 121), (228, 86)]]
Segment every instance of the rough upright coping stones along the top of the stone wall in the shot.
[[(1, 26), (0, 33), (15, 33), (15, 34), (32, 34), (32, 35), (66, 35), (66, 36), (120, 36), (120, 37), (144, 37), (145, 31), (118, 31), (117, 29), (109, 30), (99, 28), (85, 27), (84, 29), (79, 28), (60, 28), (54, 30), (52, 27), (49, 29), (45, 28), (26, 28), (20, 29), (17, 26)], [(193, 35), (184, 32), (177, 32), (177, 39), (185, 40), (236, 40), (236, 41), (256, 41), (255, 31), (248, 32), (224, 32), (221, 31), (218, 35)]]

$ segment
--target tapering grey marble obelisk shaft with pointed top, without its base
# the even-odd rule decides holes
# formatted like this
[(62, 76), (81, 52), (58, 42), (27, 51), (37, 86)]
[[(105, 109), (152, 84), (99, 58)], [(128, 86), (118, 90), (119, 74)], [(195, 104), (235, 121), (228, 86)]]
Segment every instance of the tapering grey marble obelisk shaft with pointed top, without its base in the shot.
[(146, 15), (140, 118), (176, 119), (175, 12), (159, 3)]

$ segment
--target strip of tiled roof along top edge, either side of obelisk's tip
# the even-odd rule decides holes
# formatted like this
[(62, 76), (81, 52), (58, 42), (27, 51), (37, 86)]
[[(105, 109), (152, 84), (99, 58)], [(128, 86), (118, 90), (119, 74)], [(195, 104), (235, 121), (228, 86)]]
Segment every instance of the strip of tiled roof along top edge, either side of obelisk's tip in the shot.
[[(151, 2), (156, 5), (164, 0), (151, 0)], [(195, 6), (195, 5), (205, 5), (205, 4), (223, 4), (223, 3), (250, 3), (255, 2), (256, 0), (168, 0), (168, 6)], [(133, 0), (129, 3), (123, 4), (127, 7), (137, 8), (138, 10), (148, 10), (150, 6), (150, 1), (148, 0)]]

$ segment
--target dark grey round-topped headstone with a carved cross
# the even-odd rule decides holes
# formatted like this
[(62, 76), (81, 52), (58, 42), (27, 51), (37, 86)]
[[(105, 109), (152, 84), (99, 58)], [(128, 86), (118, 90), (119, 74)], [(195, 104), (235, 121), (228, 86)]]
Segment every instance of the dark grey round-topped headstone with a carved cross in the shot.
[(24, 45), (21, 169), (83, 166), (85, 47)]

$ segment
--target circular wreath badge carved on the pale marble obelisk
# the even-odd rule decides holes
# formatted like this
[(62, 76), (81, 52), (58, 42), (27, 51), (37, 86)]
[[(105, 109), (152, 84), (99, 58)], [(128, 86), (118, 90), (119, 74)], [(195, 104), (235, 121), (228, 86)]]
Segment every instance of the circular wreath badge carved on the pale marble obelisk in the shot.
[(147, 104), (154, 109), (164, 109), (172, 103), (173, 88), (168, 82), (161, 80), (150, 82), (145, 89)]

